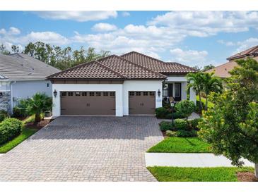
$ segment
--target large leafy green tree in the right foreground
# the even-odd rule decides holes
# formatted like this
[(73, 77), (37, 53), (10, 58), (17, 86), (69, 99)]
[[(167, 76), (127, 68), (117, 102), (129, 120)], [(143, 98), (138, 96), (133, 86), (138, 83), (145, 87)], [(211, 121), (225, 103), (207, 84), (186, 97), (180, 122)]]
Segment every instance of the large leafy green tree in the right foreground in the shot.
[(242, 166), (241, 158), (255, 163), (258, 177), (258, 62), (248, 58), (237, 63), (223, 94), (211, 94), (214, 107), (204, 112), (199, 136), (214, 154), (223, 154), (236, 166)]

